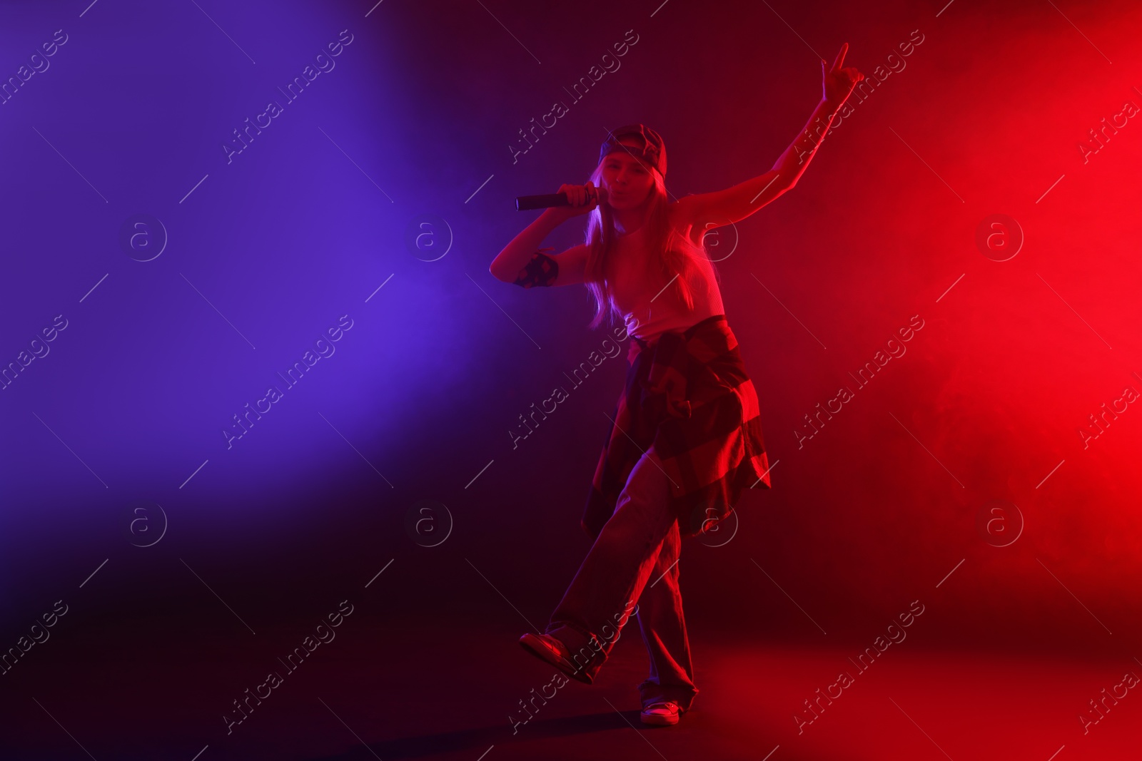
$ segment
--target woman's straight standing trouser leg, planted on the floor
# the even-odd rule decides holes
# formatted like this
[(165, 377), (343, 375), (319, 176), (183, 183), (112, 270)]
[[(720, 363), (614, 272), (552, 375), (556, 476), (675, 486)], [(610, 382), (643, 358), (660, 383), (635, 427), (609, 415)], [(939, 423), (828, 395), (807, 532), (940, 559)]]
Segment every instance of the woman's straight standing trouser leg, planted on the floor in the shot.
[(694, 687), (678, 589), (681, 547), (678, 524), (674, 523), (662, 541), (651, 581), (638, 598), (638, 629), (650, 654), (650, 678), (638, 686), (643, 707), (660, 701), (675, 701), (678, 707), (689, 711), (699, 691)]

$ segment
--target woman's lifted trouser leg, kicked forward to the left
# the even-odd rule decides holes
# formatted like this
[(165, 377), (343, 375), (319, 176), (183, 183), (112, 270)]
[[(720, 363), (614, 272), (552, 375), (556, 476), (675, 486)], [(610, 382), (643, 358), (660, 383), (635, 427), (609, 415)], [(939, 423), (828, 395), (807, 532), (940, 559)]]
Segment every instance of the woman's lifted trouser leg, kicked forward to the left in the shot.
[(669, 495), (669, 480), (651, 447), (630, 471), (614, 515), (552, 614), (546, 633), (566, 645), (577, 664), (588, 664), (592, 675), (635, 613), (662, 540), (676, 526)]

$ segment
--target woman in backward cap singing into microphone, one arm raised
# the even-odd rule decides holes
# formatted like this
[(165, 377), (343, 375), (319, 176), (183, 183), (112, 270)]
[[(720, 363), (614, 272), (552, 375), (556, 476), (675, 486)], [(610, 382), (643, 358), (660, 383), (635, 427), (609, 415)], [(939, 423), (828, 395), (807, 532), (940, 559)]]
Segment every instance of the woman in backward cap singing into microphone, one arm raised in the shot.
[[(678, 591), (682, 537), (716, 526), (743, 488), (770, 487), (757, 395), (702, 237), (794, 187), (863, 79), (842, 67), (847, 49), (828, 70), (821, 62), (821, 102), (770, 171), (671, 203), (661, 136), (621, 127), (586, 185), (560, 187), (570, 205), (544, 211), (491, 264), (492, 275), (523, 288), (586, 284), (596, 305), (590, 326), (618, 314), (634, 338), (582, 518), (594, 544), (547, 631), (520, 643), (589, 685), (635, 615), (650, 654), (638, 686), (644, 723), (677, 723), (698, 694)], [(557, 256), (537, 250), (556, 226), (588, 212), (586, 243)]]

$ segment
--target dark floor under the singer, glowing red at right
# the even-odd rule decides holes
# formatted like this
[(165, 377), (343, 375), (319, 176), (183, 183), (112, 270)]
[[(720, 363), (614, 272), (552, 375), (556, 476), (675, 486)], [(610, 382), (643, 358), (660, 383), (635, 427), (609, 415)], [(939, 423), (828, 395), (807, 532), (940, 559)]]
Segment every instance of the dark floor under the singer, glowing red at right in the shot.
[[(227, 637), (187, 626), (185, 616), (123, 623), (61, 631), (2, 677), (0, 758), (1142, 758), (1142, 697), (1115, 687), (1142, 673), (1140, 663), (930, 650), (912, 638), (861, 671), (850, 659), (859, 643), (797, 647), (692, 622), (701, 693), (679, 724), (651, 728), (638, 721), (636, 685), (648, 664), (637, 629), (624, 631), (630, 635), (594, 685), (569, 681), (523, 721), (520, 701), (554, 669), (517, 645), (522, 621), (514, 629), (468, 622), (458, 634), (427, 616), (348, 615), (296, 671), (279, 658), (300, 645), (304, 622)], [(227, 646), (211, 645), (220, 641)], [(234, 701), (271, 671), (278, 686), (231, 723), (241, 715)], [(849, 678), (838, 682), (842, 672)], [(1103, 688), (1120, 699), (1107, 697), (1100, 717), (1088, 701)], [(813, 712), (806, 701), (815, 701)]]

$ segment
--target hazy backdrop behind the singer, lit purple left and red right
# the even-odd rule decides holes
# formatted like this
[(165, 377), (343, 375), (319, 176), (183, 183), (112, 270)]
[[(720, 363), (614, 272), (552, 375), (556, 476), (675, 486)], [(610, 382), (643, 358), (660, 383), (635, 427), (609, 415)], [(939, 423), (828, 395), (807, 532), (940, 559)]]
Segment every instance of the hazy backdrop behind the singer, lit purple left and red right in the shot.
[[(773, 489), (684, 544), (687, 620), (758, 648), (863, 647), (918, 599), (917, 648), (1142, 651), (1142, 413), (1080, 434), (1142, 389), (1142, 127), (1079, 147), (1142, 104), (1135, 5), (370, 6), (0, 6), (5, 78), (67, 34), (0, 105), (0, 363), (67, 319), (0, 390), (0, 647), (69, 606), (0, 677), (27, 738), (59, 734), (30, 695), (96, 702), (121, 661), (151, 674), (123, 677), (124, 701), (150, 694), (161, 715), (177, 693), (204, 738), (186, 746), (224, 743), (216, 714), (260, 680), (241, 640), (292, 647), (345, 599), (359, 645), (400, 622), (442, 641), (504, 628), (509, 648), (521, 618), (541, 629), (589, 548), (627, 343), (513, 448), (518, 415), (611, 334), (587, 329), (581, 286), (491, 277), (536, 216), (515, 196), (586, 181), (628, 122), (662, 133), (675, 196), (759, 175), (843, 42), (866, 76), (906, 65), (853, 96), (794, 192), (707, 238)], [(233, 130), (341, 30), (336, 67), (227, 163)], [(621, 67), (572, 102), (563, 88), (628, 30)], [(555, 100), (569, 113), (513, 163)], [(168, 238), (150, 261), (120, 242), (140, 213)], [(1021, 228), (1004, 261), (976, 244), (992, 214)], [(232, 415), (341, 315), (336, 353), (227, 448)], [(858, 388), (915, 315), (907, 353)], [(798, 446), (844, 386), (854, 398)]]

